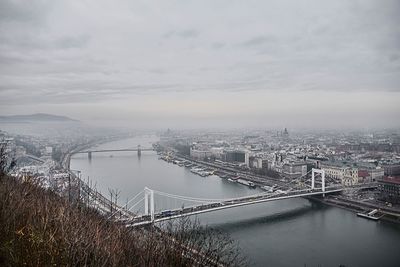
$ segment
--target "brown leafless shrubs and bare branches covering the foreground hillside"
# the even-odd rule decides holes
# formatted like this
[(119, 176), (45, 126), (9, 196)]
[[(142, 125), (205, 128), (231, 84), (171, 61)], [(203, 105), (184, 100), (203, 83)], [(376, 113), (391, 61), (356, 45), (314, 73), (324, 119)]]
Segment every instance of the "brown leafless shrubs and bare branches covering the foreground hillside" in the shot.
[(0, 266), (244, 263), (226, 235), (198, 223), (183, 219), (164, 225), (163, 231), (128, 229), (81, 203), (69, 203), (34, 180), (10, 177), (7, 164), (0, 165)]

